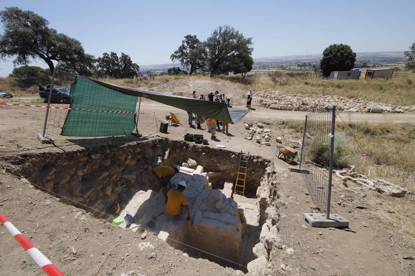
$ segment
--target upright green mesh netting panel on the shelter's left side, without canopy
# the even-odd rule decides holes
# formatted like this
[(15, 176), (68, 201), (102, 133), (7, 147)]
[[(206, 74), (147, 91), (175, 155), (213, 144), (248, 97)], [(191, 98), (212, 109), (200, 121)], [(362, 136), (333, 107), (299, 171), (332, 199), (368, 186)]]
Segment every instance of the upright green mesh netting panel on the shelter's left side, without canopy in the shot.
[[(136, 111), (137, 97), (108, 89), (88, 78), (76, 76), (71, 84), (70, 108), (108, 111)], [(74, 137), (131, 134), (134, 114), (68, 110), (61, 135)]]

